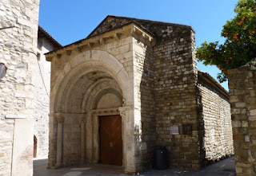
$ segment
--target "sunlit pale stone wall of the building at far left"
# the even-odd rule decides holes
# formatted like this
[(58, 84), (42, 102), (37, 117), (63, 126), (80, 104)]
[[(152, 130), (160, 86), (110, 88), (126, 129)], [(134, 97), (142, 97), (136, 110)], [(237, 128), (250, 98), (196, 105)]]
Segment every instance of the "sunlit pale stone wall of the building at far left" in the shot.
[(0, 80), (0, 175), (33, 174), (38, 9), (38, 0), (0, 2), (0, 28), (14, 26), (0, 30), (0, 62), (9, 68)]

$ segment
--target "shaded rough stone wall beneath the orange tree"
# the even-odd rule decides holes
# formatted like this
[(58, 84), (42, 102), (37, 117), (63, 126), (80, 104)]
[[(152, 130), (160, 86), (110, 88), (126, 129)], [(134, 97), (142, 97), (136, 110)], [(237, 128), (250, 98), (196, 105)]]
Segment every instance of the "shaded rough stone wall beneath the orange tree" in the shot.
[(238, 176), (256, 175), (256, 72), (252, 66), (228, 71), (235, 169)]

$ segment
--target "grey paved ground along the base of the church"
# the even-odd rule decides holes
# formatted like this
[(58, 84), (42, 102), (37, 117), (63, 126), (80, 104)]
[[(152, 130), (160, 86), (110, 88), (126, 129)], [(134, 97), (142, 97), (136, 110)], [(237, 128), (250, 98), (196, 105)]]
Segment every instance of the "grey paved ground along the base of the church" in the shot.
[[(114, 176), (114, 175), (126, 175), (123, 174), (122, 167), (120, 166), (106, 166), (106, 165), (86, 165), (83, 167), (66, 167), (58, 170), (47, 170), (47, 159), (34, 160), (34, 176), (83, 176), (83, 175), (95, 175), (95, 176)], [(216, 162), (210, 166), (198, 172), (167, 169), (167, 170), (148, 170), (138, 175), (147, 176), (234, 176), (234, 156), (226, 158), (220, 162)]]

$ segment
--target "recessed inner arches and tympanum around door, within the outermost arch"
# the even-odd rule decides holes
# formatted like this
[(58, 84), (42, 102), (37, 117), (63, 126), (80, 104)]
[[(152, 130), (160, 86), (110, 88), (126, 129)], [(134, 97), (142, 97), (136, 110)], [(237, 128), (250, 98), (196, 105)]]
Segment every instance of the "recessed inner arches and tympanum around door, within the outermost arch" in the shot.
[[(122, 107), (122, 90), (107, 72), (92, 71), (83, 74), (64, 92), (68, 93), (62, 100), (62, 111), (72, 119), (67, 122), (69, 117), (64, 115), (66, 126), (71, 130), (63, 129), (63, 144), (66, 144), (63, 145), (63, 164), (98, 163), (101, 160), (99, 154), (102, 154), (99, 147), (100, 119), (102, 115), (120, 115), (118, 108)], [(72, 130), (79, 127), (80, 131)], [(81, 143), (83, 139), (85, 141)], [(80, 143), (80, 147), (71, 141)]]

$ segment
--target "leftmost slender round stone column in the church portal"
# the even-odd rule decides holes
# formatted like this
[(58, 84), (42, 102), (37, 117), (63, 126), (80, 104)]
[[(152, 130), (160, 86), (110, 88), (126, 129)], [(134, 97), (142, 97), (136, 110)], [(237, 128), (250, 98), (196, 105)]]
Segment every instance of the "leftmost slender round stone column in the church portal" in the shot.
[(57, 120), (57, 156), (55, 166), (62, 166), (62, 139), (63, 139), (63, 123), (64, 117), (56, 116)]

